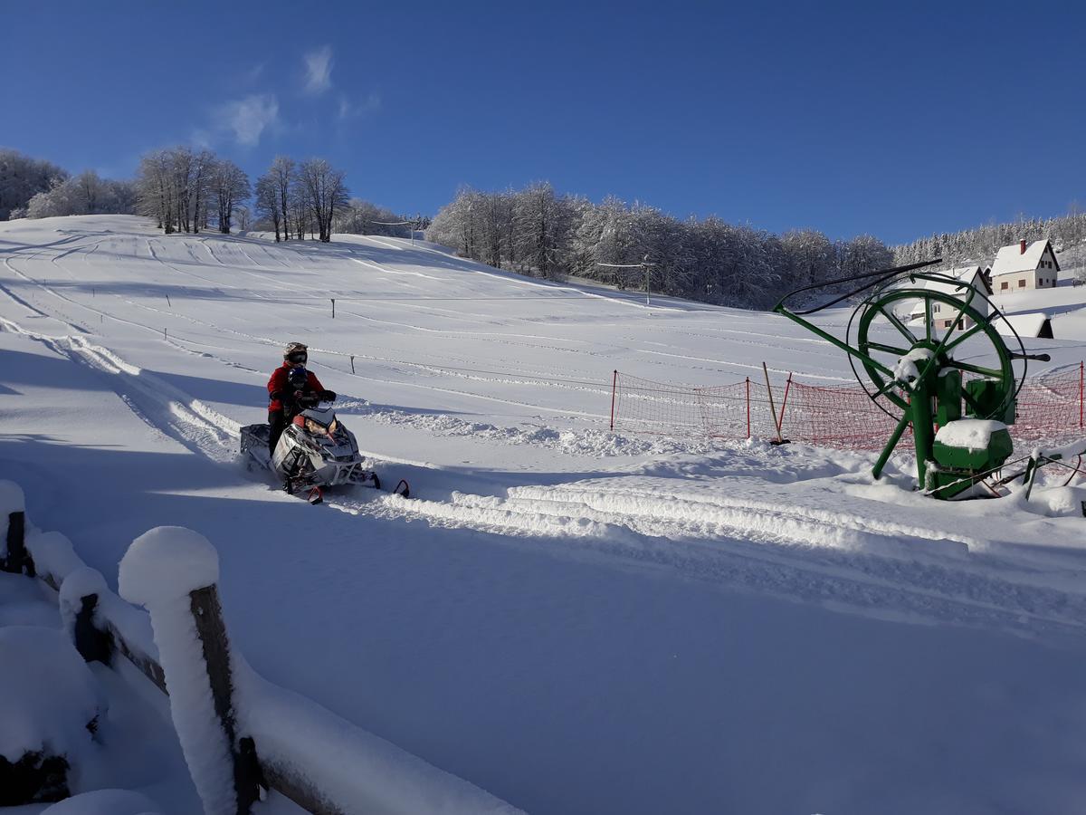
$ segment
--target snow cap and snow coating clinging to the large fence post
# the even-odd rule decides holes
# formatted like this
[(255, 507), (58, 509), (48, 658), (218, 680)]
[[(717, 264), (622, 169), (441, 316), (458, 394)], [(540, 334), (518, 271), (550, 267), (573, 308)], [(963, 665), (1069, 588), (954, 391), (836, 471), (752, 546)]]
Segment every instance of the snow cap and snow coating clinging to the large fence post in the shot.
[(160, 526), (132, 541), (121, 561), (118, 587), (151, 612), (159, 664), (185, 761), (206, 815), (237, 811), (230, 744), (215, 703), (189, 592), (218, 579), (218, 553), (199, 532)]

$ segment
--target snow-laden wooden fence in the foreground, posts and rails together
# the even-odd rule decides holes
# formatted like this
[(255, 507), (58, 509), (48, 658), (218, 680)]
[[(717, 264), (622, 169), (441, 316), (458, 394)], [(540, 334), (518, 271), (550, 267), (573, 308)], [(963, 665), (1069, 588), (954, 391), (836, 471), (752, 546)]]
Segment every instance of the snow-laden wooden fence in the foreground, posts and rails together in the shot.
[(262, 789), (321, 815), (519, 812), (252, 670), (230, 647), (218, 554), (198, 532), (159, 527), (132, 541), (117, 595), (64, 536), (27, 522), (11, 481), (0, 481), (0, 569), (58, 591), (83, 657), (110, 665), (119, 655), (169, 697), (209, 815), (249, 813)]

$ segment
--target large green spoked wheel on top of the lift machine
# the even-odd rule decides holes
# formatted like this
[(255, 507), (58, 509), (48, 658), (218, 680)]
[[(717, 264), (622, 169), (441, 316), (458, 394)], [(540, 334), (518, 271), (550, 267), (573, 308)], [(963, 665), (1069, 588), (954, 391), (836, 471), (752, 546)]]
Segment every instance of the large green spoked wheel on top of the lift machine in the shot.
[[(1014, 369), (1019, 355), (1012, 355), (993, 325), (1002, 315), (994, 306), (990, 316), (983, 314), (972, 303), (976, 298), (985, 298), (975, 291), (973, 294), (963, 299), (934, 289), (909, 287), (874, 292), (858, 306), (853, 315), (854, 319), (859, 315), (856, 348), (867, 380), (855, 362), (853, 371), (868, 396), (887, 414), (900, 418), (909, 405), (910, 390), (907, 378), (900, 376), (901, 361), (911, 358), (922, 373), (927, 359), (934, 355), (935, 375), (948, 369), (961, 372), (960, 391), (968, 413), (977, 418), (1006, 415), (1021, 388), (1024, 365), (1021, 372)], [(985, 405), (978, 405), (964, 387), (970, 378), (994, 383)]]

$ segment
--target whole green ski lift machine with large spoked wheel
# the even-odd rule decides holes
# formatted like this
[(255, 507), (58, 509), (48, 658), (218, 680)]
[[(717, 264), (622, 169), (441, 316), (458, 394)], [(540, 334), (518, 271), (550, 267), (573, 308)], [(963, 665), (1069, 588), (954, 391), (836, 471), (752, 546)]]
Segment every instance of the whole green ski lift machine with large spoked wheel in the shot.
[[(947, 499), (969, 490), (1010, 456), (1007, 425), (1014, 422), (1025, 361), (1048, 356), (1026, 354), (1010, 323), (971, 280), (918, 271), (938, 262), (807, 286), (786, 294), (773, 311), (845, 351), (868, 396), (897, 419), (872, 475), (882, 475), (911, 425), (920, 486)], [(866, 283), (817, 308), (794, 311), (785, 305), (801, 292), (856, 281)], [(853, 312), (844, 340), (804, 319), (869, 289)], [(1016, 340), (1018, 352), (1008, 349), (996, 330), (1000, 319)]]

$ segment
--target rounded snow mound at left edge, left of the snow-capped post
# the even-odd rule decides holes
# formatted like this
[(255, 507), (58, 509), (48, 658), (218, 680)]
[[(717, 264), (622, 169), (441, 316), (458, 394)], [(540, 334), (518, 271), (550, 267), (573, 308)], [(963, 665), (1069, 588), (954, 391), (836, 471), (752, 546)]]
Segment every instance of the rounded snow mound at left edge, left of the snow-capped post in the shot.
[(0, 755), (67, 755), (90, 745), (87, 724), (98, 715), (94, 679), (60, 629), (0, 628)]

